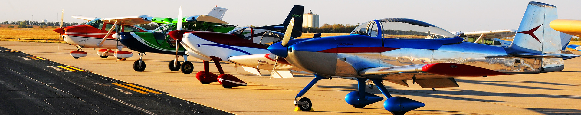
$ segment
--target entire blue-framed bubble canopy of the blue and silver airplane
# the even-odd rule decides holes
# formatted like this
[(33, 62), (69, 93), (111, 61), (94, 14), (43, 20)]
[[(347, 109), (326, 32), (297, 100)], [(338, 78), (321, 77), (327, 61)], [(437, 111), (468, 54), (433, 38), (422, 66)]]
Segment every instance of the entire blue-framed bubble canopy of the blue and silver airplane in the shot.
[(351, 34), (395, 39), (442, 39), (456, 35), (424, 21), (388, 18), (367, 21), (356, 27)]

